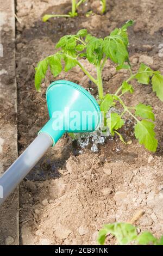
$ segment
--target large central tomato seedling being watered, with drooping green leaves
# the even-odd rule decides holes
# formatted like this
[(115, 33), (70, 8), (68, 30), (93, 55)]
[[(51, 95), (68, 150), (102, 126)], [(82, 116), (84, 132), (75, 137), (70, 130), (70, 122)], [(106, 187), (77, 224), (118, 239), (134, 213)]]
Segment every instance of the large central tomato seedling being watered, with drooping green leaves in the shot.
[[(151, 82), (153, 92), (156, 92), (159, 99), (163, 101), (163, 76), (160, 71), (153, 71), (143, 63), (137, 72), (133, 74), (131, 71), (127, 50), (129, 44), (127, 28), (131, 25), (133, 25), (132, 20), (128, 21), (122, 28), (114, 29), (104, 39), (87, 34), (86, 29), (80, 30), (76, 35), (63, 36), (56, 45), (56, 48), (60, 48), (60, 50), (38, 63), (35, 73), (35, 88), (40, 92), (41, 81), (45, 78), (48, 67), (51, 69), (53, 76), (57, 77), (62, 70), (67, 72), (78, 65), (98, 88), (98, 103), (103, 113), (104, 124), (109, 128), (111, 135), (117, 134), (124, 142), (118, 129), (124, 125), (123, 117), (127, 113), (135, 120), (134, 132), (139, 143), (145, 145), (146, 149), (155, 152), (158, 141), (155, 138), (152, 107), (142, 103), (136, 106), (127, 106), (125, 96), (128, 97), (128, 93), (134, 93), (134, 88), (130, 82), (135, 79), (141, 84)], [(80, 62), (82, 58), (87, 59), (89, 63), (96, 67), (96, 77), (93, 77), (82, 65)], [(128, 69), (130, 75), (114, 94), (104, 95), (102, 72), (108, 58), (117, 64), (117, 71)], [(64, 62), (64, 65), (62, 65), (62, 62)], [(115, 112), (111, 113), (109, 117), (106, 115), (111, 107), (120, 108), (120, 106), (122, 108), (121, 114)]]

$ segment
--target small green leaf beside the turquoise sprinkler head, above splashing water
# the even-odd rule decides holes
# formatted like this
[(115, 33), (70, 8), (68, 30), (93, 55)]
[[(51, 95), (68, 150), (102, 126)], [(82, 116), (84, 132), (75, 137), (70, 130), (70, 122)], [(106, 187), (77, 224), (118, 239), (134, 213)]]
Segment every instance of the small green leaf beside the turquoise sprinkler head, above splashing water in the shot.
[(114, 130), (118, 130), (124, 125), (124, 120), (117, 113), (111, 113), (110, 118), (107, 119), (111, 135), (114, 135)]

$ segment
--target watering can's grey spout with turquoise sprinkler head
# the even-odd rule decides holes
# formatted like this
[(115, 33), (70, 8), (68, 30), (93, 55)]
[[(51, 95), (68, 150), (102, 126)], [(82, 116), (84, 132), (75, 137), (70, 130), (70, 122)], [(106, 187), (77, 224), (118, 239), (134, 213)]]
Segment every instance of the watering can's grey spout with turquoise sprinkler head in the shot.
[(64, 133), (92, 132), (101, 124), (101, 112), (96, 100), (78, 84), (55, 81), (47, 88), (46, 99), (49, 121), (1, 176), (0, 205)]

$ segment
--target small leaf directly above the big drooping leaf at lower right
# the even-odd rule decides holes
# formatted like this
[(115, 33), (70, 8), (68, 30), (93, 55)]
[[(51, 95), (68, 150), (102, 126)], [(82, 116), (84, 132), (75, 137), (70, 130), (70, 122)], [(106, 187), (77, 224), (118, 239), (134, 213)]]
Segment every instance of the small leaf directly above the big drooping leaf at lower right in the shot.
[(147, 106), (142, 103), (139, 103), (134, 108), (136, 109), (135, 111), (136, 116), (152, 119), (154, 121), (154, 113), (152, 112), (152, 107), (150, 105)]

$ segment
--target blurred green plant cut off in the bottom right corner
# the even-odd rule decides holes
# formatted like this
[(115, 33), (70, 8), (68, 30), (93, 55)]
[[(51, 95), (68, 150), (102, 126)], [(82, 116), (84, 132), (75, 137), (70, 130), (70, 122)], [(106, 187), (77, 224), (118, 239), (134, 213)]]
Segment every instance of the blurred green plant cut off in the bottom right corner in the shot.
[(149, 231), (138, 235), (136, 227), (129, 223), (105, 224), (98, 233), (97, 241), (100, 245), (104, 245), (108, 234), (116, 237), (118, 245), (129, 245), (131, 242), (134, 245), (163, 245), (163, 236), (157, 239)]

